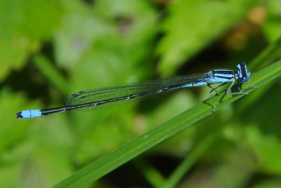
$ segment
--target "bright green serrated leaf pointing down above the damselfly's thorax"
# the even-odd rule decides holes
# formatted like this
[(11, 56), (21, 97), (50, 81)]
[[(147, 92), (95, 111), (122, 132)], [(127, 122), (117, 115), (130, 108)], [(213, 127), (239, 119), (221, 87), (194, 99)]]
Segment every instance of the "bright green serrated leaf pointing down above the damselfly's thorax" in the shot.
[(177, 1), (164, 21), (159, 72), (171, 75), (185, 60), (242, 20), (260, 0)]

